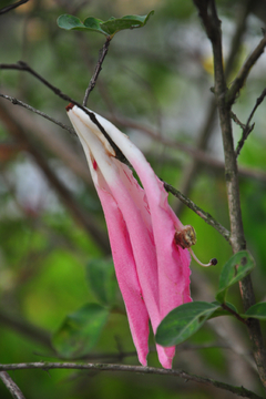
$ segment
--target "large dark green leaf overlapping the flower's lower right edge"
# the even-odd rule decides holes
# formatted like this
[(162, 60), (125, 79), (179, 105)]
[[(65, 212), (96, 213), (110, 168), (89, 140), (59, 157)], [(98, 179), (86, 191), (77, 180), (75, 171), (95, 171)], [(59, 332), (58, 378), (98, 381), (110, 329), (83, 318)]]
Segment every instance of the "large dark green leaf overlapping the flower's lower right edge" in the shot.
[(170, 347), (177, 345), (195, 334), (211, 315), (221, 307), (205, 301), (188, 303), (178, 306), (160, 324), (155, 340), (158, 345)]

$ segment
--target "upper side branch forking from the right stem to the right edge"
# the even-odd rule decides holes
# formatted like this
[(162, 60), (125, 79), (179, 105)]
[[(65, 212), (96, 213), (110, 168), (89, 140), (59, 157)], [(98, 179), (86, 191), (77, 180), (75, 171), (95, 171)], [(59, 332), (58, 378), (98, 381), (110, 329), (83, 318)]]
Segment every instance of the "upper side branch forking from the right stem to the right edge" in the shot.
[(238, 95), (241, 89), (245, 84), (248, 73), (250, 72), (252, 68), (257, 62), (259, 57), (263, 54), (265, 47), (266, 47), (266, 34), (264, 33), (264, 38), (260, 40), (256, 49), (248, 57), (248, 59), (242, 66), (241, 71), (238, 72), (236, 79), (233, 81), (228, 92), (226, 93), (226, 103), (228, 105), (232, 105), (235, 102), (236, 96)]

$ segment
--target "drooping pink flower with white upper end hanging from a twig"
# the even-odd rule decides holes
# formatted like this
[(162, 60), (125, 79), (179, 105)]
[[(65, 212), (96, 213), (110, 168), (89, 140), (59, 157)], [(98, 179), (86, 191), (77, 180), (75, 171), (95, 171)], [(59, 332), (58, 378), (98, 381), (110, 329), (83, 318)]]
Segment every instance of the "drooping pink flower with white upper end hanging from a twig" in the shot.
[[(184, 226), (167, 203), (163, 183), (125, 134), (89, 110), (90, 115), (73, 104), (66, 110), (102, 203), (133, 341), (140, 362), (146, 366), (149, 320), (155, 334), (173, 308), (192, 300), (190, 254), (176, 239)], [(143, 188), (130, 167), (115, 157), (115, 145)], [(162, 366), (171, 368), (175, 347), (157, 345), (156, 349)]]

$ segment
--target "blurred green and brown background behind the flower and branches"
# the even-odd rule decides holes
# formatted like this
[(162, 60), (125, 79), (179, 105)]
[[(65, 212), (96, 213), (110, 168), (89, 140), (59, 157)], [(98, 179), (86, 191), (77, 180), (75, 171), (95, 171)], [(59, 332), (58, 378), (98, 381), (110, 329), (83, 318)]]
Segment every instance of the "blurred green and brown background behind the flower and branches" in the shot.
[[(11, 1), (0, 1), (1, 8)], [(228, 84), (262, 39), (266, 2), (217, 1)], [(30, 0), (0, 16), (1, 63), (28, 62), (53, 85), (82, 102), (104, 37), (61, 30), (57, 18), (102, 20), (155, 14), (142, 29), (111, 42), (89, 108), (112, 120), (142, 149), (156, 174), (229, 228), (223, 146), (214, 104), (209, 42), (192, 1)], [(228, 61), (229, 60), (229, 61)], [(234, 112), (245, 123), (266, 85), (266, 57), (258, 60)], [(66, 103), (27, 72), (1, 70), (0, 92), (70, 125)], [(265, 300), (265, 103), (239, 155), (247, 247), (256, 259), (253, 280)], [(235, 143), (242, 130), (234, 124)], [(197, 232), (192, 297), (214, 300), (228, 243), (178, 200), (170, 202)], [(98, 286), (99, 273), (106, 283)], [(242, 310), (238, 287), (229, 300)], [(71, 318), (93, 305), (102, 311), (96, 335), (84, 328), (82, 348), (70, 349)], [(99, 308), (98, 308), (99, 306)], [(85, 310), (84, 310), (85, 311)], [(100, 313), (101, 313), (100, 311)], [(66, 318), (66, 319), (65, 319)], [(66, 321), (65, 321), (66, 320)], [(265, 327), (264, 332), (265, 332)], [(90, 326), (89, 326), (90, 329)], [(91, 330), (90, 330), (91, 331)], [(86, 334), (88, 332), (88, 334)], [(98, 338), (98, 339), (96, 339)], [(66, 344), (65, 344), (66, 339)], [(29, 110), (0, 99), (0, 362), (85, 359), (137, 365), (119, 293), (102, 208), (76, 137)], [(160, 367), (151, 336), (149, 365)], [(57, 351), (54, 351), (54, 348)], [(207, 323), (176, 350), (174, 367), (260, 392), (247, 332), (231, 318)], [(178, 378), (119, 372), (23, 370), (10, 376), (27, 399), (233, 398)], [(10, 398), (0, 383), (1, 399)]]

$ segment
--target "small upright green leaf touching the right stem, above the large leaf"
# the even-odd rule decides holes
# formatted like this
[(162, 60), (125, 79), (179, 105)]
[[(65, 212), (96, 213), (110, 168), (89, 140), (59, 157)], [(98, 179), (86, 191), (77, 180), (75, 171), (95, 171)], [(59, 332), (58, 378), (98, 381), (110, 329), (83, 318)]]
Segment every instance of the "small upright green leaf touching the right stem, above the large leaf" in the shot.
[[(236, 265), (238, 267), (236, 268)], [(246, 277), (255, 267), (255, 262), (248, 250), (241, 250), (233, 255), (229, 260), (224, 265), (219, 276), (219, 287), (216, 299), (224, 303), (227, 289)]]

